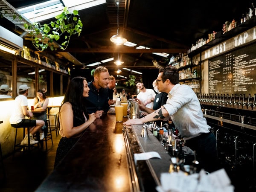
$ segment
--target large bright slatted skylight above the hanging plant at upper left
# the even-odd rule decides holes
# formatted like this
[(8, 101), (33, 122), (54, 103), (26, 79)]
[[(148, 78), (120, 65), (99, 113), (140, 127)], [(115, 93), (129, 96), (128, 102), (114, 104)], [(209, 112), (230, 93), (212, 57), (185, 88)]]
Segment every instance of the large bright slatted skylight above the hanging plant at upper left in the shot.
[(73, 10), (87, 9), (93, 6), (97, 6), (106, 3), (106, 0), (49, 0), (44, 3), (38, 3), (33, 6), (24, 8), (18, 8), (17, 10), (32, 23), (47, 20), (61, 14), (64, 6), (68, 8), (70, 12)]

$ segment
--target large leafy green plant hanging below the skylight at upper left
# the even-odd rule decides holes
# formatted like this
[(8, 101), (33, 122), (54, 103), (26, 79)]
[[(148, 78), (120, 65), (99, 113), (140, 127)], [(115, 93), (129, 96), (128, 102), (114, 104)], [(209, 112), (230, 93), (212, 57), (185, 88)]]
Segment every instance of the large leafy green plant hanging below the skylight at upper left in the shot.
[(55, 19), (55, 21), (44, 25), (40, 23), (24, 24), (25, 29), (32, 30), (29, 34), (32, 35), (32, 43), (38, 51), (44, 51), (47, 47), (50, 47), (52, 51), (56, 50), (53, 41), (58, 42), (61, 45), (60, 48), (65, 50), (71, 35), (78, 34), (79, 36), (81, 34), (83, 24), (77, 10), (70, 13), (67, 7), (64, 7), (63, 12)]

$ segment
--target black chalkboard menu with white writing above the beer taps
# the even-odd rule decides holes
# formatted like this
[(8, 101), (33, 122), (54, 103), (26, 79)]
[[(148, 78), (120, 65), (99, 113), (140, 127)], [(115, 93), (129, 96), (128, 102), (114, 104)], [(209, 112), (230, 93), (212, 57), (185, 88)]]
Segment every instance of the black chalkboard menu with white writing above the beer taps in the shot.
[(209, 93), (256, 93), (256, 44), (209, 59)]

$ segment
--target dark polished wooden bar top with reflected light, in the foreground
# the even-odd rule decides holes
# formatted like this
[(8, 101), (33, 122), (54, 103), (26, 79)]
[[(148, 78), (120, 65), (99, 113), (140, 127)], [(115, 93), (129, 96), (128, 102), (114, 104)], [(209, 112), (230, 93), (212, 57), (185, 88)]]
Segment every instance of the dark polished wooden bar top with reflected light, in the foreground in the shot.
[(36, 191), (131, 192), (131, 183), (122, 122), (116, 122), (115, 114), (105, 114), (84, 131)]

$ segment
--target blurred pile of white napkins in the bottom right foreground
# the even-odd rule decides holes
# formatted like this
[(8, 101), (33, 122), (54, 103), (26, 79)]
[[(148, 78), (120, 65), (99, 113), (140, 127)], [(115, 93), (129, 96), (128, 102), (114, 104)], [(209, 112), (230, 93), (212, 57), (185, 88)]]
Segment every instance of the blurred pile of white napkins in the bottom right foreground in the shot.
[(204, 170), (192, 175), (184, 172), (162, 173), (158, 192), (234, 192), (224, 169), (207, 174)]

